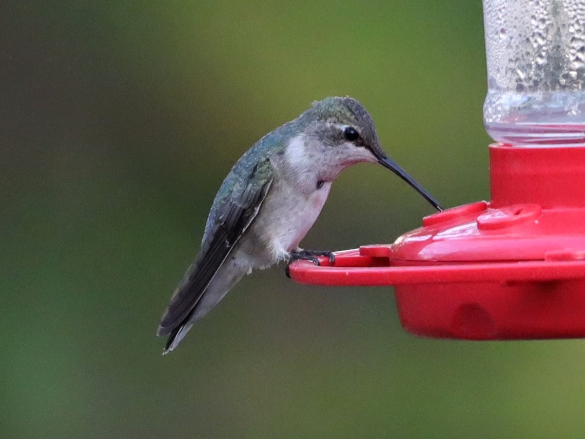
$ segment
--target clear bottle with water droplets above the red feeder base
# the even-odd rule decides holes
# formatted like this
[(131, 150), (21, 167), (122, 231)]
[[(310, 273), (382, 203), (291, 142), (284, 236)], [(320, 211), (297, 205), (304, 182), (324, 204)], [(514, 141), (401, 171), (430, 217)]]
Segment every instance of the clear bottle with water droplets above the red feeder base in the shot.
[(487, 133), (585, 146), (585, 0), (483, 0)]

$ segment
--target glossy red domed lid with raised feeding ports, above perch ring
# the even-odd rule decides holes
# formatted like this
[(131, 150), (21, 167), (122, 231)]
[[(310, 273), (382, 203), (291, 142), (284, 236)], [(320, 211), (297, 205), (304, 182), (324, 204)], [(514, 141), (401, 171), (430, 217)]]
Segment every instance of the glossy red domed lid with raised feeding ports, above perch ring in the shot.
[(585, 209), (543, 209), (535, 203), (494, 209), (480, 201), (431, 215), (422, 224), (391, 245), (393, 259), (545, 260), (551, 251), (585, 250)]

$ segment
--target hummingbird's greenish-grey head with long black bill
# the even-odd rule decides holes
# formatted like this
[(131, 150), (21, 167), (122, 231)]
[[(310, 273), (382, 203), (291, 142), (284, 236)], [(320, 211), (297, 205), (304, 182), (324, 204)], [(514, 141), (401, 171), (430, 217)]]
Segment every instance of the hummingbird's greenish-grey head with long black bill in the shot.
[(386, 155), (376, 125), (360, 102), (350, 97), (328, 97), (314, 102), (302, 118), (308, 120), (304, 135), (309, 144), (325, 150), (329, 160), (325, 160), (324, 166), (335, 169), (334, 173), (354, 163), (380, 163), (417, 190), (433, 207), (442, 210), (431, 194)]

